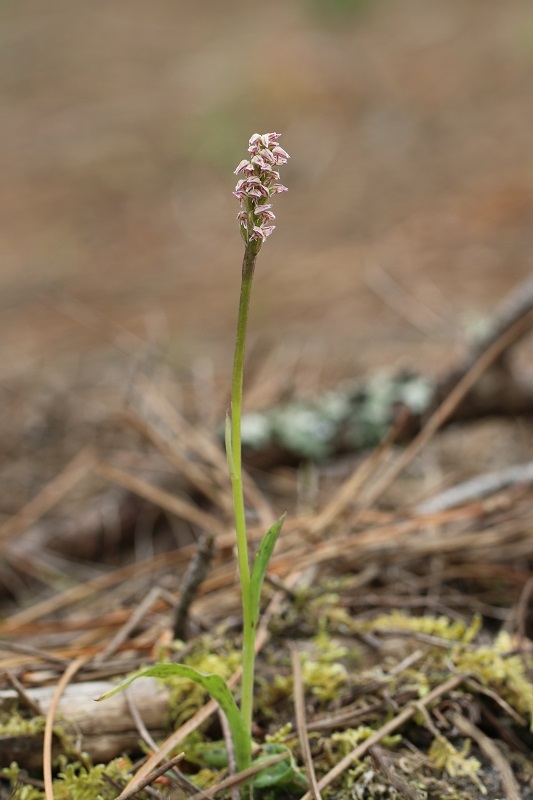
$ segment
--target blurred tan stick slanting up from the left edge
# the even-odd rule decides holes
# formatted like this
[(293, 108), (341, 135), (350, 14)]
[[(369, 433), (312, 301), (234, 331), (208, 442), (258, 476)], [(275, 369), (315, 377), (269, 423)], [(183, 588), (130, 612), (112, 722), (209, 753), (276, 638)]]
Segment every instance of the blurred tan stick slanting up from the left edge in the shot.
[(39, 494), (0, 525), (0, 552), (13, 537), (34, 525), (73, 489), (89, 473), (95, 460), (92, 445), (84, 447)]

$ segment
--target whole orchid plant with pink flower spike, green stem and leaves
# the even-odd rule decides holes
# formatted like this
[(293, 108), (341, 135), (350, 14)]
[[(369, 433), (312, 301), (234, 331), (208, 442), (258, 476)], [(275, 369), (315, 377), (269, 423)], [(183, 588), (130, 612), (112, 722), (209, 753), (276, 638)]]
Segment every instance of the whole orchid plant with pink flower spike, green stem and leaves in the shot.
[[(252, 710), (255, 673), (255, 639), (259, 621), (261, 589), (266, 570), (281, 531), (284, 517), (275, 522), (264, 535), (253, 565), (250, 566), (248, 539), (246, 535), (246, 515), (242, 476), (241, 415), (244, 376), (244, 353), (248, 328), (248, 312), (255, 265), (259, 251), (272, 234), (275, 216), (272, 212), (271, 198), (287, 188), (279, 182), (279, 167), (287, 163), (288, 153), (278, 144), (279, 133), (254, 133), (249, 141), (250, 157), (240, 162), (235, 174), (239, 178), (234, 196), (240, 203), (237, 214), (239, 227), (244, 240), (241, 292), (235, 342), (235, 357), (231, 383), (231, 409), (226, 417), (225, 443), (229, 473), (233, 491), (235, 511), (235, 531), (237, 538), (237, 561), (241, 584), (243, 634), (242, 634), (242, 680), (241, 702), (237, 704), (226, 682), (219, 675), (206, 675), (186, 664), (158, 664), (138, 672), (122, 681), (118, 686), (99, 699), (110, 697), (124, 689), (132, 681), (142, 676), (166, 678), (180, 676), (202, 686), (217, 701), (224, 712), (231, 730), (235, 762), (239, 772), (248, 769), (252, 763)], [(267, 755), (281, 747), (270, 745)], [(261, 759), (265, 759), (262, 756)], [(260, 763), (263, 760), (260, 759)], [(290, 753), (287, 759), (265, 769), (254, 779), (257, 788), (272, 787), (301, 781), (301, 776), (292, 762)], [(266, 764), (265, 764), (266, 766)], [(246, 796), (252, 791), (248, 784)]]

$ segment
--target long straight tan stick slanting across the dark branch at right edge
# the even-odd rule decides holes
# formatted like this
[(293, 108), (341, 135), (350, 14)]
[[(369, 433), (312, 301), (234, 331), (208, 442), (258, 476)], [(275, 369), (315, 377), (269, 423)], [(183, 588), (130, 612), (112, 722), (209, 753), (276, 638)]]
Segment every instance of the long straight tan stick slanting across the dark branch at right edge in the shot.
[(481, 375), (493, 364), (507, 348), (522, 336), (533, 324), (533, 311), (529, 311), (525, 316), (520, 317), (510, 328), (505, 330), (499, 339), (492, 344), (479, 356), (470, 369), (463, 375), (461, 380), (454, 386), (450, 394), (445, 398), (437, 410), (428, 419), (420, 433), (405, 448), (403, 453), (392, 467), (387, 470), (381, 480), (378, 480), (372, 490), (365, 498), (364, 508), (373, 505), (376, 500), (388, 489), (396, 480), (398, 475), (413, 460), (420, 450), (429, 442), (431, 437), (446, 422), (455, 411), (465, 395), (479, 380)]

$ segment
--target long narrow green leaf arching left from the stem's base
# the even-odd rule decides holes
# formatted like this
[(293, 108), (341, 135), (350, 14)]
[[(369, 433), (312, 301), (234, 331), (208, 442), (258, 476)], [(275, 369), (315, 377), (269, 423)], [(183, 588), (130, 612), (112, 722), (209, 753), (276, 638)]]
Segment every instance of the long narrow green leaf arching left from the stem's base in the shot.
[(205, 675), (203, 672), (198, 672), (194, 667), (189, 667), (186, 664), (156, 664), (154, 667), (138, 672), (129, 678), (121, 681), (118, 686), (115, 686), (109, 692), (106, 692), (97, 700), (106, 700), (112, 697), (117, 692), (125, 689), (130, 683), (136, 681), (137, 678), (170, 678), (170, 677), (188, 678), (194, 681), (203, 689), (205, 689), (211, 697), (216, 700), (228, 720), (231, 730), (231, 737), (233, 739), (233, 747), (235, 748), (235, 761), (237, 762), (237, 769), (241, 772), (247, 769), (252, 761), (252, 743), (250, 736), (246, 729), (244, 719), (235, 702), (226, 681), (220, 675)]

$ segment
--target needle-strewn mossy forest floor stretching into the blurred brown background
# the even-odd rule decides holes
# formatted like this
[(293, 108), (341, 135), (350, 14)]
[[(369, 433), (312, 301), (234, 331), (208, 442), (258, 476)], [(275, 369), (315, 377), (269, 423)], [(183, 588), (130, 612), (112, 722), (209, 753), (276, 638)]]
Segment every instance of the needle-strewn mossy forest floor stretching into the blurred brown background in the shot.
[[(121, 3), (29, 5), (0, 12), (0, 767), (20, 765), (20, 800), (107, 800), (130, 758), (155, 768), (146, 754), (186, 733), (186, 761), (139, 796), (188, 797), (193, 778), (212, 796), (226, 772), (201, 745), (224, 727), (203, 695), (139, 681), (94, 698), (157, 659), (238, 668), (220, 424), (249, 127), (283, 130), (292, 159), (254, 286), (247, 411), (384, 372), (437, 381), (530, 274), (533, 18), (519, 0), (403, 0), (333, 24), (325, 2), (277, 0), (267, 81), (242, 70), (271, 44), (244, 0), (128, 3), (127, 24)], [(509, 352), (528, 384), (530, 341)], [(406, 459), (417, 435), (247, 460), (251, 541), (287, 512), (254, 737), (289, 746), (307, 781), (314, 765), (323, 797), (527, 800), (533, 422), (473, 415)], [(501, 480), (443, 499), (487, 474)]]

